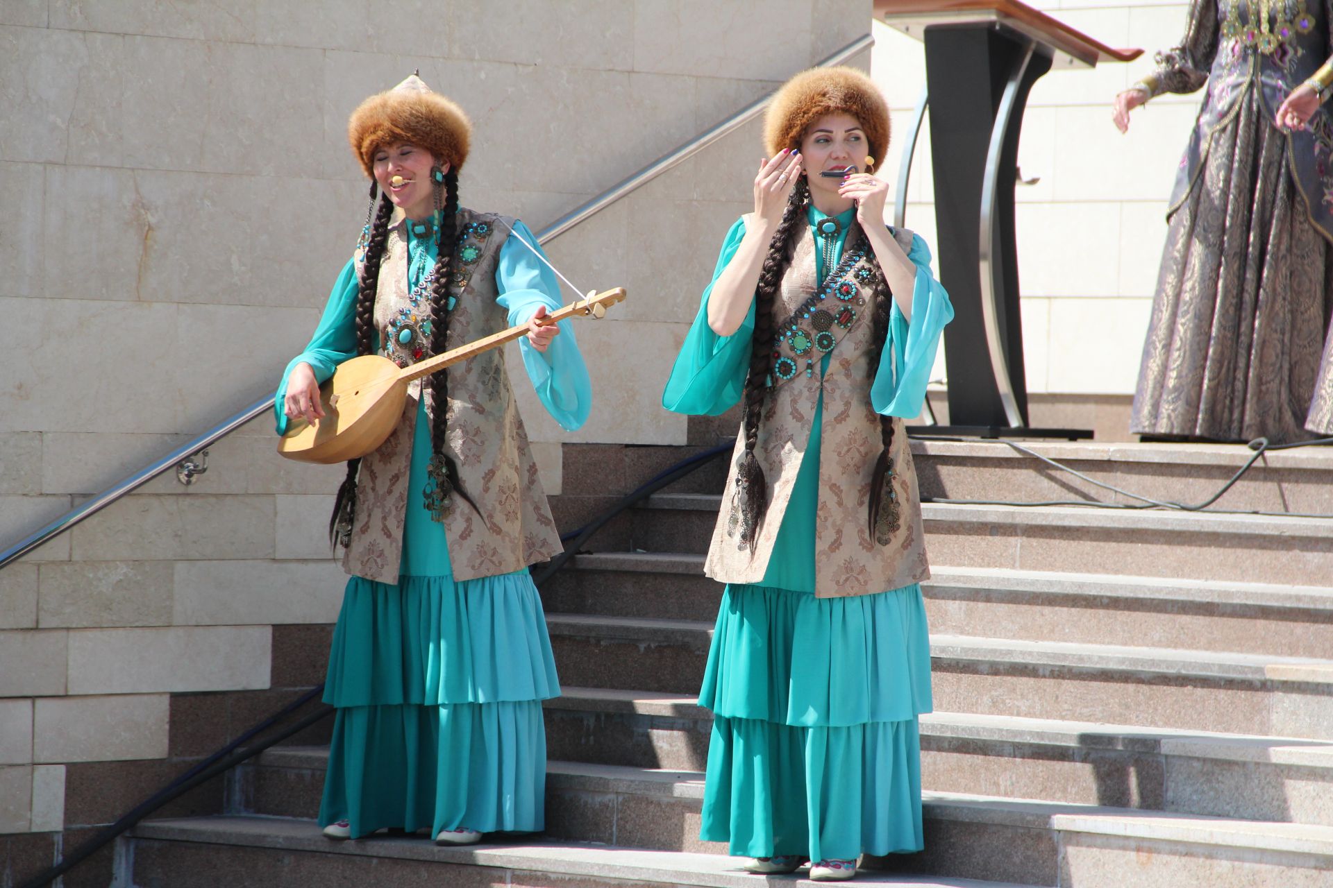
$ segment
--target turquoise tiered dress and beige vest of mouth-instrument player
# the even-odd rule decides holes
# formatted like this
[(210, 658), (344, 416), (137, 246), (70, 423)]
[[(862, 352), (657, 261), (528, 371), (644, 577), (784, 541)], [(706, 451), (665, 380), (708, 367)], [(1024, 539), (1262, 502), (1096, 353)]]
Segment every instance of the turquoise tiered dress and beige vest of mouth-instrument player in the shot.
[[(813, 249), (814, 226), (828, 217), (809, 213), (808, 238), (774, 300), (778, 321), (817, 298), (818, 282), (833, 270)], [(853, 217), (854, 210), (836, 217), (836, 268), (856, 230)], [(713, 281), (744, 234), (741, 220), (726, 236)], [(814, 333), (816, 320), (804, 337), (796, 332), (774, 346), (781, 357), (770, 391), (780, 394), (765, 398), (756, 451), (782, 465), (770, 462), (765, 473), (772, 498), (758, 547), (753, 558), (737, 551), (724, 498), (709, 550), (708, 575), (728, 584), (698, 695), (713, 711), (701, 837), (726, 841), (733, 855), (846, 860), (922, 847), (917, 718), (930, 711), (930, 650), (916, 579), (929, 571), (920, 537), (913, 538), (920, 506), (901, 425), (893, 453), (904, 514), (892, 547), (866, 537), (865, 489), (881, 446), (877, 414), (917, 415), (953, 309), (930, 276), (925, 242), (900, 234), (912, 238), (917, 266), (910, 324), (894, 305), (878, 353), (864, 328), (838, 333), (846, 309), (870, 310), (854, 302), (853, 268), (829, 285), (826, 305), (834, 308), (824, 330)], [(852, 298), (836, 301), (838, 290)], [(754, 306), (733, 335), (718, 337), (708, 326), (710, 292), (712, 284), (663, 395), (676, 413), (725, 413), (745, 383)], [(820, 343), (825, 334), (833, 338)], [(853, 426), (874, 430), (873, 450), (846, 434)], [(733, 467), (728, 494), (734, 485)], [(842, 533), (830, 537), (830, 527)], [(904, 572), (914, 579), (866, 584)]]

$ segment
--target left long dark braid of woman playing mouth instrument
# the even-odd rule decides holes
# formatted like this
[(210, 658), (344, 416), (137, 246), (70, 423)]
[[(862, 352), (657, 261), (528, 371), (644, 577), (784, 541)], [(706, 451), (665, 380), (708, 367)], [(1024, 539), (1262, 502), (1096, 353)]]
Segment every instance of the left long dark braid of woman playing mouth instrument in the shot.
[(796, 244), (805, 233), (805, 208), (809, 200), (810, 190), (805, 180), (798, 178), (786, 201), (782, 221), (773, 232), (768, 256), (764, 257), (758, 273), (758, 285), (754, 288), (754, 335), (750, 339), (749, 374), (745, 377), (745, 391), (741, 395), (745, 402), (745, 418), (741, 423), (745, 450), (736, 463), (736, 494), (728, 523), (728, 531), (738, 535), (740, 549), (750, 551), (754, 551), (758, 542), (760, 523), (768, 507), (768, 481), (754, 455), (754, 447), (758, 443), (760, 414), (764, 411), (764, 398), (773, 371), (773, 301), (777, 298), (782, 276), (792, 264)]

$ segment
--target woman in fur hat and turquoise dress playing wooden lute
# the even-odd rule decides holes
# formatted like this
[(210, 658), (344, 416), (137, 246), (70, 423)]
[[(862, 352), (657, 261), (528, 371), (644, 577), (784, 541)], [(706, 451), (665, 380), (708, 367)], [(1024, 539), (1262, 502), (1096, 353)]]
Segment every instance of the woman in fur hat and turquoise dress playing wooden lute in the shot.
[[(565, 429), (588, 374), (555, 276), (517, 220), (459, 205), (471, 125), (416, 76), (348, 125), (371, 210), (319, 329), (277, 391), (277, 425), (317, 422), (319, 385), (355, 355), (408, 366), (529, 324), (525, 369)], [(560, 550), (501, 350), (413, 382), (403, 418), (353, 459), (329, 533), (351, 574), (324, 699), (337, 707), (320, 824), (467, 844), (544, 827), (541, 700), (555, 660), (528, 566)]]

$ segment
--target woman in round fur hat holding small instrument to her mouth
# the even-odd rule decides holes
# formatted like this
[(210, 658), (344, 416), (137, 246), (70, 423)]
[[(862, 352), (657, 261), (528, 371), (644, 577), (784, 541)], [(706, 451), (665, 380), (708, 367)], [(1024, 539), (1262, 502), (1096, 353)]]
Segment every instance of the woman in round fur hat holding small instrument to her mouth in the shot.
[(953, 317), (925, 242), (884, 224), (889, 114), (809, 71), (768, 112), (754, 212), (722, 244), (663, 397), (744, 419), (706, 572), (725, 582), (700, 704), (702, 839), (753, 872), (849, 879), (921, 848), (929, 575), (901, 417)]

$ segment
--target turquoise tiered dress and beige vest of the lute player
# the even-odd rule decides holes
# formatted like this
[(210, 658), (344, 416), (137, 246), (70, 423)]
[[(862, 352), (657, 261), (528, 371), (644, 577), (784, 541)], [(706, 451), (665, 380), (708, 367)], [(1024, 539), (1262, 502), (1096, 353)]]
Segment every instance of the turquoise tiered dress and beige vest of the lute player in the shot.
[[(463, 210), (463, 221), (493, 220)], [(505, 238), (484, 222), (460, 226), (449, 347), (527, 322), (539, 305), (560, 306), (555, 276), (537, 264), (511, 220)], [(493, 225), (493, 221), (491, 222)], [(491, 240), (493, 238), (493, 240)], [(485, 244), (485, 246), (481, 246)], [(380, 354), (400, 366), (424, 355), (432, 318), (425, 297), (433, 237), (389, 229), (375, 322)], [(471, 274), (471, 277), (469, 277)], [(424, 284), (425, 281), (425, 284)], [(356, 354), (357, 260), (344, 268), (305, 351), (293, 358), (323, 382)], [(545, 354), (520, 346), (543, 405), (565, 429), (588, 417), (592, 390), (573, 330), (563, 322)], [(495, 329), (487, 329), (495, 328)], [(457, 339), (456, 339), (457, 337)], [(449, 370), (448, 449), (485, 527), (457, 502), (445, 521), (424, 507), (431, 422), (420, 385), (395, 433), (361, 463), (357, 513), (344, 566), (348, 579), (333, 630), (324, 700), (337, 708), (320, 825), (348, 820), (352, 836), (384, 827), (409, 832), (544, 828), (547, 743), (541, 700), (560, 695), (545, 616), (527, 564), (549, 551), (555, 525), (527, 455), (500, 351)], [(473, 413), (489, 407), (491, 425)], [(287, 419), (279, 413), (277, 431)], [(507, 429), (487, 441), (476, 429)], [(505, 470), (515, 479), (505, 481)], [(497, 474), (499, 473), (499, 474)], [(513, 502), (519, 501), (519, 502)], [(460, 507), (461, 506), (461, 511)], [(536, 522), (539, 539), (507, 539)], [(508, 530), (505, 530), (508, 529)], [(492, 539), (497, 530), (499, 542)], [(465, 542), (464, 542), (465, 541)], [(504, 551), (496, 554), (495, 547)], [(507, 560), (508, 559), (508, 560)]]

